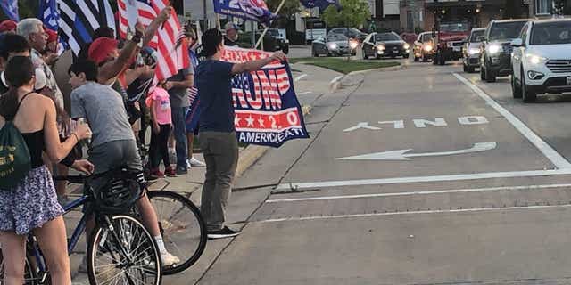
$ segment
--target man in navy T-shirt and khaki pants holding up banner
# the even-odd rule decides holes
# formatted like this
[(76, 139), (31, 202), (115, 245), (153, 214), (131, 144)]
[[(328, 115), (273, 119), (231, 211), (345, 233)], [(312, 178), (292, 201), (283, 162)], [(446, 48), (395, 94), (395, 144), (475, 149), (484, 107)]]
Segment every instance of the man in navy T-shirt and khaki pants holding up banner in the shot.
[(223, 239), (239, 234), (225, 225), (228, 199), (238, 162), (232, 77), (261, 69), (273, 61), (285, 61), (284, 53), (280, 52), (244, 63), (220, 61), (225, 53), (223, 39), (219, 29), (204, 32), (202, 55), (206, 60), (198, 66), (195, 77), (201, 98), (198, 140), (206, 161), (201, 212), (209, 239)]

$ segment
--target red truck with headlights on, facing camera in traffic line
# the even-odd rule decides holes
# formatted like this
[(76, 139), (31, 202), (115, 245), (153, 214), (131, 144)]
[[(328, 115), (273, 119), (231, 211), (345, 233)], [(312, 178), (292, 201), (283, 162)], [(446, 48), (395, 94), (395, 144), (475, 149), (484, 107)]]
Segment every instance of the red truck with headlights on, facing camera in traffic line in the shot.
[(435, 34), (433, 64), (446, 64), (462, 57), (462, 45), (470, 35), (468, 22), (442, 22)]

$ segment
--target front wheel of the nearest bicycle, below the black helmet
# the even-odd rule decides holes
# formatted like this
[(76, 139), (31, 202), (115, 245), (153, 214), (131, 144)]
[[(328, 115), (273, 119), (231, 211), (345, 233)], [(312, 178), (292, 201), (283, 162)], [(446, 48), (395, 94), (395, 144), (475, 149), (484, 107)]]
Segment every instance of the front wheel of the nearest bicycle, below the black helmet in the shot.
[(89, 283), (159, 285), (159, 248), (143, 224), (132, 216), (112, 216), (95, 227), (87, 245)]

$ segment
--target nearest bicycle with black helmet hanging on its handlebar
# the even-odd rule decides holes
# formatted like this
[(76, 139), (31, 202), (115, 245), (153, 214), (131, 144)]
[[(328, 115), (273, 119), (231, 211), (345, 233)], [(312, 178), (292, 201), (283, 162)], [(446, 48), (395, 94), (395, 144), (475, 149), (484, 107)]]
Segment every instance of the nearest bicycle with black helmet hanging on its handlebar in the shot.
[[(162, 279), (161, 255), (155, 240), (135, 217), (122, 215), (132, 208), (141, 195), (139, 177), (120, 168), (101, 175), (70, 175), (54, 177), (70, 183), (85, 185), (85, 195), (63, 208), (65, 214), (85, 205), (88, 208), (68, 240), (68, 252), (78, 244), (85, 231), (87, 218), (95, 215), (95, 228), (87, 242), (87, 274), (90, 284), (114, 283), (160, 285)], [(106, 191), (91, 187), (95, 179), (108, 178)], [(65, 215), (64, 214), (64, 215)], [(32, 233), (27, 241), (25, 284), (49, 284), (46, 260)], [(111, 277), (110, 277), (111, 276)], [(4, 258), (0, 263), (0, 277), (4, 278)]]

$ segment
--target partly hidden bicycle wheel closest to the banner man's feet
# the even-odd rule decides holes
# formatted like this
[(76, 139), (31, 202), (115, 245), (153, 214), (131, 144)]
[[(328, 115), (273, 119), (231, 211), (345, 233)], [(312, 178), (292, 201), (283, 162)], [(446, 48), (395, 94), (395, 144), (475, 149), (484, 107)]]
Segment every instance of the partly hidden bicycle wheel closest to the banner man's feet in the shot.
[(184, 196), (171, 191), (148, 191), (159, 219), (165, 248), (180, 263), (163, 268), (165, 275), (185, 271), (203, 255), (207, 232), (200, 210)]

